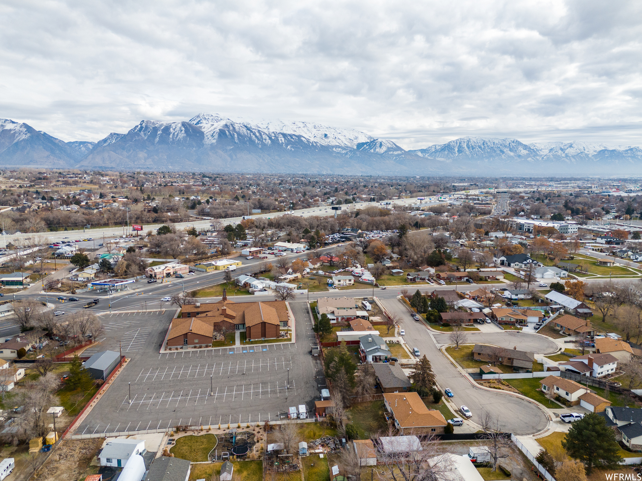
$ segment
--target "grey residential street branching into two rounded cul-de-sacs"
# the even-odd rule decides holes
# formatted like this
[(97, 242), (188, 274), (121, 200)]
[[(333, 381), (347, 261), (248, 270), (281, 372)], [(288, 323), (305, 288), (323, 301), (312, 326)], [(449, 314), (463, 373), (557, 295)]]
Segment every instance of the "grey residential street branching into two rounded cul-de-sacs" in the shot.
[[(419, 348), (430, 360), (437, 382), (442, 389), (449, 387), (455, 393), (450, 401), (457, 407), (467, 406), (473, 412), (472, 420), (480, 422), (483, 411), (490, 412), (498, 419), (499, 428), (514, 434), (534, 434), (546, 428), (548, 419), (539, 407), (529, 401), (504, 394), (486, 391), (461, 375), (455, 366), (439, 351), (437, 344), (447, 344), (447, 334), (435, 334), (428, 331), (425, 325), (412, 320), (408, 310), (398, 300), (383, 300), (390, 311), (403, 317), (401, 327), (406, 330), (405, 339), (410, 348)], [(521, 336), (521, 337), (517, 337)], [(557, 350), (554, 342), (539, 335), (516, 333), (476, 333), (469, 336), (469, 342), (487, 342), (503, 347), (514, 346), (519, 341), (519, 348), (549, 352)], [(460, 413), (456, 413), (460, 415)]]

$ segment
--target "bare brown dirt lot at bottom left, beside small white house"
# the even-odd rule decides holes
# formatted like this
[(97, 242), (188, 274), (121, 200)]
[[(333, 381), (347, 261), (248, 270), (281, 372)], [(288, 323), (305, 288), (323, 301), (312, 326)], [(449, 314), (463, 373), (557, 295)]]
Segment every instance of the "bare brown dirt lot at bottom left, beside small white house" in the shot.
[(87, 468), (103, 441), (105, 441), (103, 438), (62, 441), (40, 468), (38, 479), (76, 481), (83, 475), (92, 474), (87, 472)]

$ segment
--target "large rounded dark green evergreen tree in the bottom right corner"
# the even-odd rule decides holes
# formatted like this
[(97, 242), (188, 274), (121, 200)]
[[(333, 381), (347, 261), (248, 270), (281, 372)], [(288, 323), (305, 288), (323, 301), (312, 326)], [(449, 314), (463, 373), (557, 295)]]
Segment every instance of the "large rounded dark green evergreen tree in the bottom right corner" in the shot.
[(571, 425), (562, 448), (570, 457), (584, 463), (587, 475), (593, 466), (616, 468), (622, 460), (615, 432), (606, 425), (605, 418), (593, 412)]

